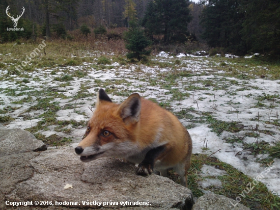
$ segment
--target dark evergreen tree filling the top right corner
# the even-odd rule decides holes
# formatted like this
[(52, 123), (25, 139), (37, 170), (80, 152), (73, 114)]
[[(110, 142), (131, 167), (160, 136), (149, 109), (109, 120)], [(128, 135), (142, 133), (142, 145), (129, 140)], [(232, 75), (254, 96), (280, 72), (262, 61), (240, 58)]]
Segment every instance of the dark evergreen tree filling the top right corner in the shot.
[(280, 55), (280, 1), (242, 0), (240, 12), (247, 50)]

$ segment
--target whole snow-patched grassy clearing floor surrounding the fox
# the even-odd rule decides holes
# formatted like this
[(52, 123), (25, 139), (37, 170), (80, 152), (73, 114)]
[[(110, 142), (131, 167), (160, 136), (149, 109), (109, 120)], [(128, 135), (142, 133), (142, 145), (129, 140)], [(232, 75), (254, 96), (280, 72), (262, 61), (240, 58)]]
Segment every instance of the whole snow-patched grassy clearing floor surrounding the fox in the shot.
[[(28, 130), (48, 149), (75, 146), (99, 88), (114, 102), (137, 92), (188, 129), (188, 187), (195, 197), (214, 192), (251, 209), (279, 209), (280, 160), (269, 154), (279, 151), (280, 64), (166, 52), (131, 62), (104, 43), (104, 50), (91, 50), (46, 42), (19, 72), (15, 65), (38, 44), (0, 49), (0, 122), (6, 127)], [(179, 181), (174, 171), (169, 176)]]

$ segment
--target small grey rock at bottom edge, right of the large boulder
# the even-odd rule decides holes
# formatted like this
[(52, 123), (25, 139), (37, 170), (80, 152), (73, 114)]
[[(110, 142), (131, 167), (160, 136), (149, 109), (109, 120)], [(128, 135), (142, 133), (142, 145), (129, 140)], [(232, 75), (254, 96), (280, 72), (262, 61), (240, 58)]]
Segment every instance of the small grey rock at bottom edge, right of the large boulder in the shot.
[(192, 210), (250, 210), (233, 199), (214, 193), (201, 196), (193, 205)]

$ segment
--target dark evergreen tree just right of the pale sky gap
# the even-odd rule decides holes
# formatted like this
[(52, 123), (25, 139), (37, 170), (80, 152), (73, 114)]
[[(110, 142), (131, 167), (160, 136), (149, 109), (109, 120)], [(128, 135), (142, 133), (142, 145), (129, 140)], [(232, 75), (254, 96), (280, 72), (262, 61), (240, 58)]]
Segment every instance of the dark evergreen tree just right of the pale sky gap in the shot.
[(225, 47), (230, 51), (244, 51), (241, 42), (243, 14), (239, 12), (240, 0), (209, 0), (202, 11), (202, 38), (211, 47)]

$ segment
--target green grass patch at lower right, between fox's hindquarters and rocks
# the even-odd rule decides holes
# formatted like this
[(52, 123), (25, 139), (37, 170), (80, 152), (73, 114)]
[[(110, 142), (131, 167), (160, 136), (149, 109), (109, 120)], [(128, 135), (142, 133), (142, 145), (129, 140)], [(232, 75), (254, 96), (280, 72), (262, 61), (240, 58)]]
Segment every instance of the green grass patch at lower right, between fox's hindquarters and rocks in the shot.
[[(246, 176), (229, 164), (223, 163), (216, 158), (208, 157), (204, 154), (193, 154), (191, 167), (188, 170), (188, 188), (192, 191), (194, 197), (201, 197), (204, 195), (201, 187), (198, 185), (198, 182), (204, 179), (200, 175), (201, 168), (204, 164), (227, 172), (227, 175), (216, 177), (221, 181), (222, 188), (213, 188), (210, 186), (204, 190), (209, 190), (215, 194), (223, 195), (234, 200), (236, 197), (241, 197), (240, 203), (248, 206), (252, 210), (279, 209), (278, 207), (280, 206), (280, 197), (270, 193), (262, 182), (258, 182), (257, 185), (254, 185), (253, 183), (256, 182), (253, 182), (253, 178)], [(174, 171), (169, 171), (169, 177), (175, 182), (180, 183), (180, 177)], [(252, 187), (254, 186), (254, 189), (246, 194), (244, 193), (244, 190), (248, 188), (249, 183), (251, 183)], [(240, 194), (244, 194), (244, 197), (242, 197)]]

